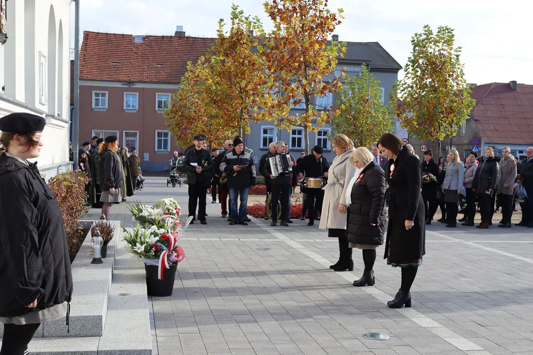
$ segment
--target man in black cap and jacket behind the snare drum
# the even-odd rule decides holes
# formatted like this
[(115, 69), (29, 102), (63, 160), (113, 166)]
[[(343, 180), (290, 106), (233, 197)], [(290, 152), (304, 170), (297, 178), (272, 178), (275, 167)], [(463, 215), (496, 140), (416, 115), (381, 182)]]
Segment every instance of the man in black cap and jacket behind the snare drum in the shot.
[[(305, 177), (328, 177), (329, 163), (324, 156), (324, 149), (316, 145), (313, 147), (313, 153), (304, 156), (300, 164), (296, 164), (296, 171), (298, 172), (298, 179)], [(314, 210), (320, 210), (322, 207), (322, 200), (324, 200), (324, 190), (321, 188), (304, 188), (303, 193), (307, 195), (307, 204), (309, 212), (308, 226), (314, 225)], [(315, 202), (316, 200), (316, 202)]]

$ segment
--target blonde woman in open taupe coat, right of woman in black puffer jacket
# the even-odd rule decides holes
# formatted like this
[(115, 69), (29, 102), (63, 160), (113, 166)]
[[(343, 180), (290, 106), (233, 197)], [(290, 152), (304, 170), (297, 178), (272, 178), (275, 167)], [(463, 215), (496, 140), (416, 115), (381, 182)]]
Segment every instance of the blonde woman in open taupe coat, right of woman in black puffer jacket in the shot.
[(497, 197), (502, 206), (502, 221), (498, 227), (510, 228), (513, 217), (513, 186), (516, 178), (516, 162), (510, 147), (502, 149), (503, 159), (499, 162), (498, 182), (496, 183)]

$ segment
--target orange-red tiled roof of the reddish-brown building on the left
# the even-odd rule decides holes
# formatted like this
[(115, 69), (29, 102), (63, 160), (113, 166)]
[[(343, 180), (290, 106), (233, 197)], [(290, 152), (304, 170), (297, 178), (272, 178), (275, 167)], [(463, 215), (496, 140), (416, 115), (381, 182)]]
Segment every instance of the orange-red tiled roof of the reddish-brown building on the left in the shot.
[(80, 80), (179, 83), (215, 38), (141, 36), (84, 31)]

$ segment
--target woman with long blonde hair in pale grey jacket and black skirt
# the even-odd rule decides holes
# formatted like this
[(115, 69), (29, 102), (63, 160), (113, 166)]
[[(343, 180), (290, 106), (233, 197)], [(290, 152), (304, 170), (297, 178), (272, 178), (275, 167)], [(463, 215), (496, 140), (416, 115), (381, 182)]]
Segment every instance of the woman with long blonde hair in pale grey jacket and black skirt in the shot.
[(446, 227), (455, 227), (457, 225), (457, 203), (463, 191), (465, 168), (455, 149), (448, 153), (448, 159), (450, 163), (442, 183), (442, 193), (446, 203)]

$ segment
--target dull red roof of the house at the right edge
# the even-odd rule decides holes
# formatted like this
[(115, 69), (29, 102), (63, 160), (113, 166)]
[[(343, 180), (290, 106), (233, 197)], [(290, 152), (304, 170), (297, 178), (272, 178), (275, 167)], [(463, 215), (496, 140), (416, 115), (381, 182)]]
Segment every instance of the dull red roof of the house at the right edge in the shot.
[(492, 82), (472, 88), (472, 115), (487, 143), (533, 144), (533, 85)]

